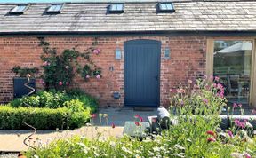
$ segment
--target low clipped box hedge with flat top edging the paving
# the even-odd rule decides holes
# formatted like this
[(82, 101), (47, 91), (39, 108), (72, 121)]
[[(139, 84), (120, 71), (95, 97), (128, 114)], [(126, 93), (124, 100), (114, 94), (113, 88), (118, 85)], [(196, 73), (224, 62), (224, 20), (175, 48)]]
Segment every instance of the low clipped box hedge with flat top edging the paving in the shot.
[[(72, 108), (72, 107), (71, 107)], [(29, 129), (23, 122), (37, 130), (60, 130), (79, 128), (90, 119), (90, 108), (73, 112), (70, 107), (10, 107), (0, 106), (1, 130)]]

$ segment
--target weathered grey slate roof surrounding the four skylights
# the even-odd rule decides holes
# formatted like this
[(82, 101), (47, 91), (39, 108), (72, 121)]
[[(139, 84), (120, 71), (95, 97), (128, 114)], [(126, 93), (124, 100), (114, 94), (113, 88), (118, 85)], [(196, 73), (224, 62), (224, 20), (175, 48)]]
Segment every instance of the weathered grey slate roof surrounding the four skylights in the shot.
[[(109, 1), (109, 0), (108, 0)], [(156, 1), (126, 0), (124, 13), (107, 13), (108, 1), (67, 3), (60, 14), (50, 4), (30, 4), (21, 15), (0, 4), (0, 34), (19, 32), (256, 31), (256, 1), (178, 0), (175, 12), (156, 12)]]

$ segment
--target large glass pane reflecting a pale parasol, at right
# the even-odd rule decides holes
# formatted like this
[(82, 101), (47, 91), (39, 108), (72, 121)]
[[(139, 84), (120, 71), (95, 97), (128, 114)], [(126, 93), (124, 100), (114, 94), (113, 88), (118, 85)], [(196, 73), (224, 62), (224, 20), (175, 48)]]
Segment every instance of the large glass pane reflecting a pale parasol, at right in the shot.
[(229, 103), (249, 103), (251, 41), (215, 41), (213, 74), (220, 77)]

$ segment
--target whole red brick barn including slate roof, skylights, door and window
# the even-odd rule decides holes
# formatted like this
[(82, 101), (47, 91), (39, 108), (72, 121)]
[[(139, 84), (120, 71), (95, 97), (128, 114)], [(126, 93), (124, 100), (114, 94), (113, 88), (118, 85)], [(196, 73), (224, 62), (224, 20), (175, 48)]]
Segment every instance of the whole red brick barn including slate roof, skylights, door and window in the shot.
[(213, 74), (229, 102), (255, 107), (255, 8), (246, 0), (0, 4), (0, 101), (13, 98), (12, 67), (42, 66), (44, 37), (58, 52), (98, 43), (102, 78), (76, 77), (74, 86), (102, 107), (168, 106), (172, 88)]

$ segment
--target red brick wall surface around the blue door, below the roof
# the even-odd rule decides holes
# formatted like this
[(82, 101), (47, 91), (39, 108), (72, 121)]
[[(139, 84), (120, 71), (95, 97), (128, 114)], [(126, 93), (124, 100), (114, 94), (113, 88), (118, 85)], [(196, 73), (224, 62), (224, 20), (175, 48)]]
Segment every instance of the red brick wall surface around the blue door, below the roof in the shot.
[[(84, 51), (97, 40), (100, 55), (92, 55), (98, 67), (102, 68), (100, 80), (84, 79), (77, 76), (72, 86), (80, 87), (100, 100), (100, 106), (122, 107), (124, 103), (124, 59), (115, 59), (116, 47), (124, 51), (124, 42), (132, 39), (153, 39), (162, 43), (162, 52), (166, 46), (171, 49), (171, 59), (161, 59), (160, 100), (166, 106), (169, 103), (170, 90), (180, 83), (188, 83), (188, 79), (195, 79), (205, 71), (205, 36), (118, 36), (118, 37), (81, 37), (81, 36), (48, 36), (45, 41), (56, 47), (58, 52), (76, 47)], [(40, 67), (42, 61), (41, 47), (38, 46), (36, 36), (0, 37), (0, 102), (12, 100), (12, 67)], [(163, 53), (161, 53), (163, 56)], [(110, 71), (109, 67), (114, 67)], [(42, 73), (42, 69), (41, 69)], [(39, 76), (39, 75), (38, 75)], [(36, 80), (38, 89), (42, 85)], [(121, 99), (113, 99), (112, 93), (118, 91)]]

